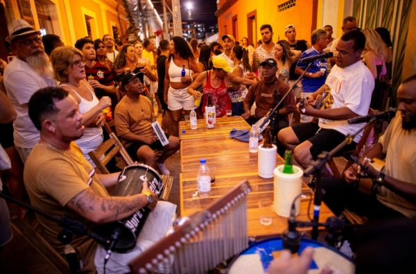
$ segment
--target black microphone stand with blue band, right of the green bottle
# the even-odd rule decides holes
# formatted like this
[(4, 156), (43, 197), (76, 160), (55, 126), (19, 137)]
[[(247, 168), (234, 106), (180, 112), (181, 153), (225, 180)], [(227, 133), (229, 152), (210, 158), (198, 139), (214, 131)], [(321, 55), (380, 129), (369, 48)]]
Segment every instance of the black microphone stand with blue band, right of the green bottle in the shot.
[[(315, 196), (313, 198), (313, 223), (318, 223), (319, 221), (319, 214), (320, 214), (320, 206), (322, 203), (322, 185), (321, 185), (321, 178), (322, 178), (322, 168), (323, 166), (334, 156), (336, 153), (338, 153), (341, 149), (344, 148), (344, 146), (347, 146), (347, 144), (351, 144), (354, 140), (354, 137), (358, 135), (361, 131), (364, 130), (364, 128), (369, 125), (370, 123), (375, 123), (376, 119), (372, 118), (370, 121), (365, 124), (362, 128), (354, 132), (352, 135), (347, 135), (345, 137), (345, 140), (338, 144), (335, 148), (333, 148), (331, 151), (322, 151), (320, 155), (318, 155), (318, 159), (315, 160), (305, 171), (304, 176), (309, 176), (312, 173), (314, 174), (314, 186), (315, 188)], [(315, 225), (312, 228), (312, 235), (311, 238), (313, 240), (318, 239), (318, 226)]]

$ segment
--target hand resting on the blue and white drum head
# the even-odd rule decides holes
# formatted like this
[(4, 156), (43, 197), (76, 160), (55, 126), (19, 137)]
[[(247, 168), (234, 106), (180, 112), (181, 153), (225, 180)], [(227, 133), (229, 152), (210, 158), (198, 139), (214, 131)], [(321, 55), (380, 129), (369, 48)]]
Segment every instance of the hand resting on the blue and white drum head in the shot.
[(269, 266), (269, 274), (306, 274), (311, 267), (313, 248), (305, 248), (300, 256), (292, 257), (289, 250), (283, 250), (279, 258)]

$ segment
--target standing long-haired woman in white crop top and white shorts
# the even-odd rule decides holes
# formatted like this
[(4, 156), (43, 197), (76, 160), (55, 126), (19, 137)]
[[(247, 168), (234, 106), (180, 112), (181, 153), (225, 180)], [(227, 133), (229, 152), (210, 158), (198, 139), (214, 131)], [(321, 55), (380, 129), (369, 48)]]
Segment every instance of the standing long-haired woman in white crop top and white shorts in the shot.
[[(188, 93), (193, 78), (201, 72), (193, 53), (182, 37), (175, 36), (169, 44), (171, 55), (165, 63), (164, 100), (171, 110), (174, 136), (179, 136), (179, 120), (182, 110), (189, 113), (196, 108), (194, 98)], [(182, 76), (184, 70), (184, 76)]]

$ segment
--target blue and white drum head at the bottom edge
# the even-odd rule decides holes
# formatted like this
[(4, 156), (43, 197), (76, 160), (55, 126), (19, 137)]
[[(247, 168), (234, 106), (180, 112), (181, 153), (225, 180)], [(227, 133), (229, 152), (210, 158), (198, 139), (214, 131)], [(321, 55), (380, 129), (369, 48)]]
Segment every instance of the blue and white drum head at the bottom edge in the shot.
[[(353, 274), (355, 266), (351, 259), (331, 246), (318, 241), (302, 239), (298, 254), (306, 247), (314, 249), (311, 268), (308, 273), (320, 273), (322, 269), (329, 268), (333, 273)], [(229, 274), (260, 274), (268, 271), (268, 266), (279, 252), (283, 250), (283, 241), (280, 237), (270, 238), (254, 243), (250, 248), (238, 255), (229, 266)]]

